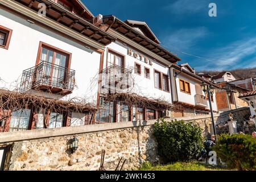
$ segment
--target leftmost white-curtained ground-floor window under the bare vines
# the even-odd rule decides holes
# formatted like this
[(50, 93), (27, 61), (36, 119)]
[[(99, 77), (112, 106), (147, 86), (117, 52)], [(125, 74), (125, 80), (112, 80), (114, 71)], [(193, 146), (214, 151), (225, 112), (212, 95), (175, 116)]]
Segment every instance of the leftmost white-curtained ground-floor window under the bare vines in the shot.
[(20, 109), (11, 114), (9, 131), (22, 131), (28, 129), (30, 121), (30, 109)]

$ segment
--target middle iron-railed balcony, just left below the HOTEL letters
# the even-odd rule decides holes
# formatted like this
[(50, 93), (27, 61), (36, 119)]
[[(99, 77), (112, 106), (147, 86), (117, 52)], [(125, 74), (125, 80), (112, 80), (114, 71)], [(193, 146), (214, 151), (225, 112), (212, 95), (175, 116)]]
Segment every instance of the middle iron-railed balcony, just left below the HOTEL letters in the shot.
[(103, 69), (100, 77), (102, 79), (100, 93), (102, 94), (122, 92), (133, 85), (131, 70), (118, 65)]

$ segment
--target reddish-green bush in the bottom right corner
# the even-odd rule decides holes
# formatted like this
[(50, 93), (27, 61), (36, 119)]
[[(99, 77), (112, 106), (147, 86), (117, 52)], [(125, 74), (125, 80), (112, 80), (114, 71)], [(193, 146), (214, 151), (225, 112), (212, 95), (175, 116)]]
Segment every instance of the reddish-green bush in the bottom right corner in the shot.
[(242, 134), (222, 134), (213, 147), (229, 168), (256, 169), (256, 138)]

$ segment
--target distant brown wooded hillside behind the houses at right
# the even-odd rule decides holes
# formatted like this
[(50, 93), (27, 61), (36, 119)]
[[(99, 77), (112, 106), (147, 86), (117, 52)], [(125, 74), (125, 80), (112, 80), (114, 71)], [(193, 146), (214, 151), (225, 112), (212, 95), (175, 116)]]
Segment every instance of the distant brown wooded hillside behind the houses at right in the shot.
[[(248, 78), (248, 77), (256, 77), (256, 67), (255, 68), (243, 68), (243, 69), (234, 69), (234, 70), (224, 70), (232, 73), (234, 77), (237, 79), (240, 78)], [(222, 71), (200, 71), (199, 73), (209, 73), (210, 75), (217, 75)]]

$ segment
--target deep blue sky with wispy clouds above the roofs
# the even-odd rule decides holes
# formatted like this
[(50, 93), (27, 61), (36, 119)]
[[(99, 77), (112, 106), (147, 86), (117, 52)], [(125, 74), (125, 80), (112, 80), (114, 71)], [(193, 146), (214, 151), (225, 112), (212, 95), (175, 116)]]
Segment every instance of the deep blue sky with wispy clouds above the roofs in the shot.
[[(161, 46), (196, 71), (256, 67), (254, 0), (82, 0), (94, 14), (144, 21)], [(217, 5), (210, 17), (209, 3)]]

